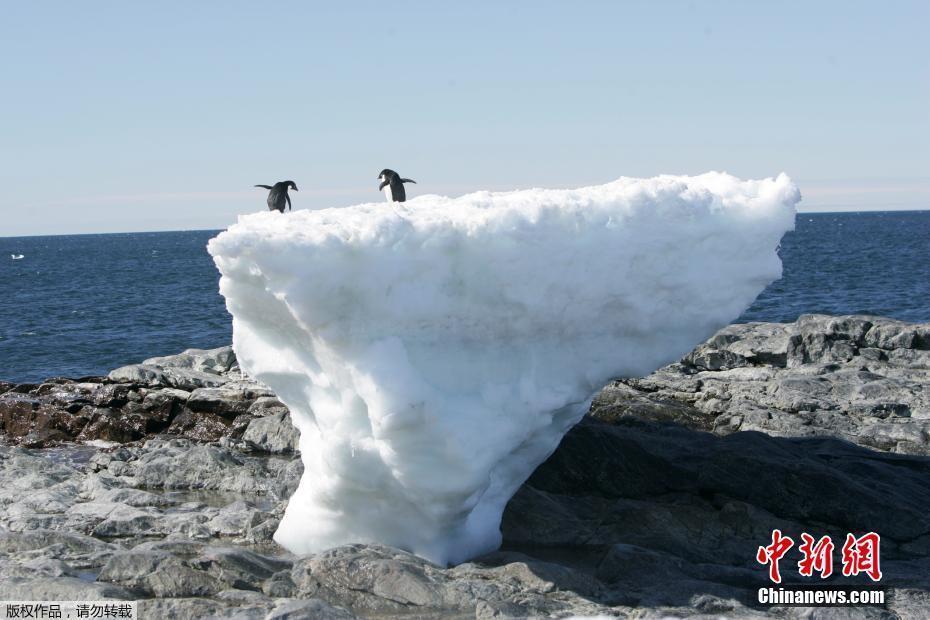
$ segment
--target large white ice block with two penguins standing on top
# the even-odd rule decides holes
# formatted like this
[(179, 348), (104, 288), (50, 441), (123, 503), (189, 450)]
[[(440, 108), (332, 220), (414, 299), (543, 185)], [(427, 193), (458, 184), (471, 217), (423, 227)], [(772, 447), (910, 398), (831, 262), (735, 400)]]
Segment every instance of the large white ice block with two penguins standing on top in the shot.
[(497, 548), (593, 394), (781, 275), (799, 200), (784, 174), (708, 173), (241, 216), (209, 244), (233, 346), (301, 433), (275, 539), (439, 564)]

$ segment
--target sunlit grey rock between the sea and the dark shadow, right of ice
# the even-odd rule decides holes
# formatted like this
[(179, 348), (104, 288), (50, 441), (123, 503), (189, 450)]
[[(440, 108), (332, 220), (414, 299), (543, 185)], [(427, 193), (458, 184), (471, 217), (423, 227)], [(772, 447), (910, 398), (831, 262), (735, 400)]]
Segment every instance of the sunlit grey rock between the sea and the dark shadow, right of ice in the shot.
[(612, 383), (591, 415), (930, 454), (927, 334), (930, 324), (868, 316), (731, 325), (681, 363)]

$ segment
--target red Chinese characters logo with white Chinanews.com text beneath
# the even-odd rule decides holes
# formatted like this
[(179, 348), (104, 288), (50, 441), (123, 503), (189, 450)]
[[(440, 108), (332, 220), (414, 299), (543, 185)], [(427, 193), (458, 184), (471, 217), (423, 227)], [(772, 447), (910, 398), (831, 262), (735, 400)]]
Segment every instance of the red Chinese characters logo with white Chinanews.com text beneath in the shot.
[[(794, 548), (795, 541), (782, 534), (781, 530), (772, 530), (772, 541), (759, 547), (756, 561), (768, 567), (769, 580), (778, 585), (782, 582), (780, 562)], [(815, 539), (804, 532), (801, 544), (797, 546), (801, 558), (797, 562), (801, 577), (827, 579), (834, 574), (834, 550), (836, 545), (830, 536)], [(861, 536), (846, 534), (846, 540), (840, 549), (841, 566), (837, 571), (843, 577), (868, 577), (873, 584), (882, 579), (881, 536), (868, 532)], [(759, 588), (758, 602), (763, 605), (795, 606), (854, 606), (884, 605), (885, 591), (877, 585), (837, 584), (829, 585), (798, 583), (784, 587), (765, 586)]]

